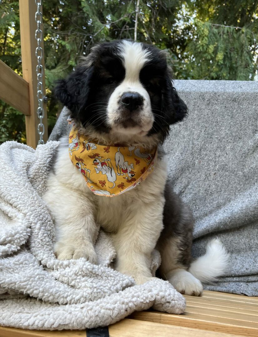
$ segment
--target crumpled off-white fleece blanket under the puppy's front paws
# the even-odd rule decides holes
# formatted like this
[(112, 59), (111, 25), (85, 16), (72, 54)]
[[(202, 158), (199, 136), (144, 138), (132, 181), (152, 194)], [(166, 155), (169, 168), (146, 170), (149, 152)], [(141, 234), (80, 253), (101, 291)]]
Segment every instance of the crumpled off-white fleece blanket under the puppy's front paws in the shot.
[[(59, 261), (54, 225), (42, 201), (59, 142), (36, 150), (16, 142), (0, 146), (0, 325), (24, 329), (107, 326), (150, 307), (182, 313), (183, 296), (159, 279), (135, 285), (110, 268), (115, 251), (100, 231), (98, 265), (84, 258)], [(160, 263), (152, 255), (153, 274)]]

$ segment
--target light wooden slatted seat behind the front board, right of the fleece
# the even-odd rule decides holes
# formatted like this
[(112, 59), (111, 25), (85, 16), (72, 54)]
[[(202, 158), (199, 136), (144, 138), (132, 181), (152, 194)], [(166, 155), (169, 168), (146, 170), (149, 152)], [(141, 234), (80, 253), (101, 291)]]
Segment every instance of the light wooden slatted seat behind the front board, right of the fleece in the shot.
[(204, 291), (201, 297), (185, 296), (182, 315), (155, 311), (133, 313), (139, 320), (199, 328), (220, 333), (258, 336), (258, 298)]

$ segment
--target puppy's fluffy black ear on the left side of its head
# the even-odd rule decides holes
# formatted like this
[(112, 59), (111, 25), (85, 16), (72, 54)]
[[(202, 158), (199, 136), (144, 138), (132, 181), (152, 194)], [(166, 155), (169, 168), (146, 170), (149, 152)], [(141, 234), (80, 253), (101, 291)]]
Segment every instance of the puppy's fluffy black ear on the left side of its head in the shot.
[(57, 81), (54, 94), (76, 117), (86, 107), (94, 67), (79, 65), (65, 80)]

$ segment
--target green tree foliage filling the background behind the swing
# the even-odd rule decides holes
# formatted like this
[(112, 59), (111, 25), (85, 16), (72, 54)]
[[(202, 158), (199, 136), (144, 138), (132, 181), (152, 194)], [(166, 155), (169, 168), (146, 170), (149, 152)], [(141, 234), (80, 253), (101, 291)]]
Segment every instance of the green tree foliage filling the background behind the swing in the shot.
[[(258, 0), (140, 0), (137, 40), (167, 50), (177, 79), (254, 80), (257, 13)], [(135, 16), (133, 0), (43, 1), (48, 132), (62, 108), (55, 81), (95, 43), (133, 39)], [(1, 60), (21, 74), (19, 2), (3, 0), (0, 18)], [(0, 102), (0, 117), (0, 143), (26, 140), (22, 114)]]

